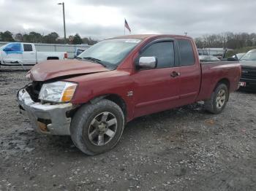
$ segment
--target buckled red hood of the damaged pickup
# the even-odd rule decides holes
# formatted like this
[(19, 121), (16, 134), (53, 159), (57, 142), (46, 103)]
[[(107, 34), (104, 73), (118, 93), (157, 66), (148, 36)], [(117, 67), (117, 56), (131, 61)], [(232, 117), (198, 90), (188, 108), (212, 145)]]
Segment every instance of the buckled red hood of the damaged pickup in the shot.
[(37, 63), (26, 77), (33, 81), (46, 81), (59, 77), (73, 77), (82, 74), (91, 74), (103, 71), (110, 71), (99, 63), (89, 61), (65, 60), (45, 61)]

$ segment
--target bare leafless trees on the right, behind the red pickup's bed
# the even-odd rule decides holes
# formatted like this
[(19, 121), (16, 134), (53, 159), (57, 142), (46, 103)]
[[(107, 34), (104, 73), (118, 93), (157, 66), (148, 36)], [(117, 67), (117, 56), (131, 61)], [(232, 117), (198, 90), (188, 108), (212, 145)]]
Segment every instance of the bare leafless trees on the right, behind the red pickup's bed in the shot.
[(256, 34), (226, 32), (222, 34), (203, 35), (195, 38), (197, 47), (223, 47), (240, 49), (242, 47), (256, 46)]

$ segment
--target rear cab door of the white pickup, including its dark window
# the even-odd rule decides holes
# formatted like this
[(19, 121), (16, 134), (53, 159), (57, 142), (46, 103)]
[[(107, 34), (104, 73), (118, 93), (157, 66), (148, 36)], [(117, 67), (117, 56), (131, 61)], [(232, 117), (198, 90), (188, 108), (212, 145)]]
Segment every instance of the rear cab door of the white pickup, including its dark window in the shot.
[(37, 54), (36, 51), (33, 50), (32, 44), (23, 44), (23, 64), (35, 64), (37, 63)]

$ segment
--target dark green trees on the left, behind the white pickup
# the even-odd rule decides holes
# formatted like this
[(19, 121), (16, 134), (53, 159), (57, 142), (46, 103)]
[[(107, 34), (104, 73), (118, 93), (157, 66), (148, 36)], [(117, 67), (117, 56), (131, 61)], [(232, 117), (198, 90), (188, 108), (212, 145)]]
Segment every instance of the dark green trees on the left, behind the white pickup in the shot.
[[(39, 34), (31, 31), (29, 34), (12, 34), (10, 31), (0, 32), (0, 41), (2, 42), (32, 42), (32, 43), (48, 43), (48, 44), (64, 44), (64, 38), (60, 38), (56, 32), (50, 34)], [(70, 35), (67, 39), (68, 44), (89, 44), (97, 43), (97, 40), (91, 37), (81, 38), (79, 34)]]

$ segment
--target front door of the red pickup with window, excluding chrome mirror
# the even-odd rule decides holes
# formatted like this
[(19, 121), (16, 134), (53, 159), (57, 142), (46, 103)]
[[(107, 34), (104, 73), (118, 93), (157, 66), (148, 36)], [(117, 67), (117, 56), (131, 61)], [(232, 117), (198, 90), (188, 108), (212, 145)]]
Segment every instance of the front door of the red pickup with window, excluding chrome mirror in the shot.
[(179, 90), (179, 71), (176, 67), (176, 42), (157, 39), (151, 42), (140, 57), (157, 58), (156, 69), (136, 69), (134, 101), (135, 117), (163, 111), (176, 106)]

